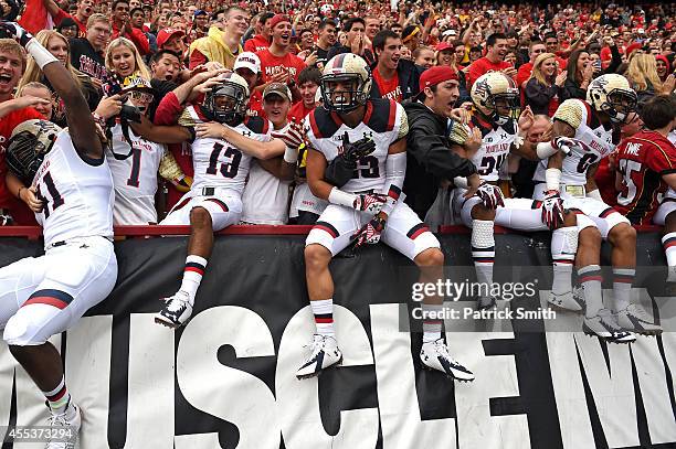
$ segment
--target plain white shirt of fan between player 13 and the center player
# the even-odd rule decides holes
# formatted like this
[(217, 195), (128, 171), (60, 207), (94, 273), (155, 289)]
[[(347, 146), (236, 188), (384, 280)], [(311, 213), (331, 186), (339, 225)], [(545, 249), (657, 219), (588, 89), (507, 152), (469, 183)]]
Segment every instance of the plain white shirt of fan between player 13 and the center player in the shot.
[[(285, 132), (288, 127), (289, 125), (286, 125), (278, 132)], [(289, 184), (289, 181), (282, 181), (254, 159), (242, 194), (241, 220), (255, 224), (286, 224)]]

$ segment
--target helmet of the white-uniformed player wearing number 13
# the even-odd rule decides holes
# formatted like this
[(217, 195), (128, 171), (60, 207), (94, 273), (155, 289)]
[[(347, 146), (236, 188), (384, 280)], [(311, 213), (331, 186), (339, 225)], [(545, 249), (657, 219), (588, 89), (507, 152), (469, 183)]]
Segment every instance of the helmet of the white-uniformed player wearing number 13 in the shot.
[(204, 96), (202, 111), (218, 122), (239, 125), (246, 117), (249, 85), (234, 72), (221, 75), (219, 81)]

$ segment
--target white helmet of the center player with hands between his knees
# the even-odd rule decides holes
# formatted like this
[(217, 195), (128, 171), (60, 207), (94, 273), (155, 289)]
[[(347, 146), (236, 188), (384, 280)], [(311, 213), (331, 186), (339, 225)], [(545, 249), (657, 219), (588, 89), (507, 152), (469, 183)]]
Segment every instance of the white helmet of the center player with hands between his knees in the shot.
[(361, 56), (342, 53), (324, 66), (319, 81), (324, 107), (349, 113), (365, 105), (371, 93), (371, 72)]

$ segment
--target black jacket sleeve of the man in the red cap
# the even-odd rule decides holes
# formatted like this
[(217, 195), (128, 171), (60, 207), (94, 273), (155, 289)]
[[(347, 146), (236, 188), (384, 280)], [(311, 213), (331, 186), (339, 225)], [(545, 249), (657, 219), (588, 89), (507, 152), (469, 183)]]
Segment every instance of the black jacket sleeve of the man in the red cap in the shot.
[(437, 179), (452, 180), (476, 173), (476, 167), (468, 159), (461, 158), (448, 148), (447, 140), (434, 135), (431, 119), (420, 118), (410, 125), (408, 152)]

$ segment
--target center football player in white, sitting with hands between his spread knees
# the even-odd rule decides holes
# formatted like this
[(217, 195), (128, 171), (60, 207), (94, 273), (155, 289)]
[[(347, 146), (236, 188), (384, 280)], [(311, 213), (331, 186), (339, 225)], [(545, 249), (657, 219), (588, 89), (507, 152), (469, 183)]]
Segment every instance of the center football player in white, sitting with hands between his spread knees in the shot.
[[(308, 296), (315, 317), (316, 334), (310, 354), (296, 375), (313, 377), (339, 364), (342, 354), (334, 330), (334, 280), (331, 258), (356, 242), (357, 246), (380, 239), (412, 259), (421, 268), (421, 281), (435, 282), (443, 276), (444, 256), (436, 237), (418, 215), (401, 201), (406, 171), (406, 115), (395, 101), (369, 99), (371, 77), (367, 63), (346, 53), (325, 66), (320, 89), (324, 107), (306, 118), (310, 149), (307, 182), (315, 195), (328, 200), (328, 207), (307, 236), (305, 266)], [(338, 189), (324, 179), (327, 164), (346, 147), (372, 139), (374, 150), (359, 160), (351, 180)], [(448, 354), (442, 338), (442, 298), (425, 297), (421, 360), (458, 381), (474, 374)]]

